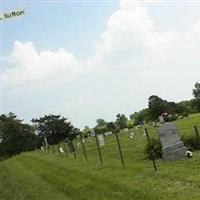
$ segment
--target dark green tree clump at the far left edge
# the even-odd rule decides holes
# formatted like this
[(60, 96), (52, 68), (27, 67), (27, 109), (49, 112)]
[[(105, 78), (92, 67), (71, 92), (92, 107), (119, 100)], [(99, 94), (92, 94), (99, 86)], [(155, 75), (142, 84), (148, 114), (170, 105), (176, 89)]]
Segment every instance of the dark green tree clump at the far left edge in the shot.
[(40, 139), (34, 128), (22, 123), (13, 113), (0, 116), (0, 156), (12, 156), (22, 151), (30, 151), (40, 146)]

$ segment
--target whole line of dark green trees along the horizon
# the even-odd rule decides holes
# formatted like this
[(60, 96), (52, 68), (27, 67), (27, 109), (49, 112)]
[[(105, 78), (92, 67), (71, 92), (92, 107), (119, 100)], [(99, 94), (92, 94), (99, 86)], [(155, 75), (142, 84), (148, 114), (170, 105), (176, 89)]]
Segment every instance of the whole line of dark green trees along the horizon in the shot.
[(91, 131), (97, 134), (124, 128), (133, 128), (135, 125), (158, 121), (158, 117), (167, 113), (165, 120), (175, 120), (178, 117), (200, 112), (200, 83), (196, 83), (193, 89), (194, 98), (179, 103), (168, 102), (156, 95), (148, 99), (148, 108), (130, 115), (117, 114), (114, 122), (106, 122), (97, 119), (97, 125), (93, 128), (85, 126), (80, 131), (72, 123), (61, 115), (44, 115), (32, 119), (32, 124), (24, 123), (14, 113), (0, 116), (0, 157), (8, 157), (23, 151), (31, 151), (44, 145), (45, 141), (52, 144), (72, 141), (80, 133), (88, 137)]

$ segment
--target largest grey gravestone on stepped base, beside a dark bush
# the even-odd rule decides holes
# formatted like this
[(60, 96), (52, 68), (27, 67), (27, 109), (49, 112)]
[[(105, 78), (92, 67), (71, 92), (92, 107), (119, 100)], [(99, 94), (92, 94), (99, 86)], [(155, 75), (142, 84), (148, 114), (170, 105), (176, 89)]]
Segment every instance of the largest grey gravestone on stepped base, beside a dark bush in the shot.
[(159, 128), (158, 136), (162, 144), (163, 159), (174, 161), (185, 158), (187, 148), (180, 140), (175, 124), (165, 124)]

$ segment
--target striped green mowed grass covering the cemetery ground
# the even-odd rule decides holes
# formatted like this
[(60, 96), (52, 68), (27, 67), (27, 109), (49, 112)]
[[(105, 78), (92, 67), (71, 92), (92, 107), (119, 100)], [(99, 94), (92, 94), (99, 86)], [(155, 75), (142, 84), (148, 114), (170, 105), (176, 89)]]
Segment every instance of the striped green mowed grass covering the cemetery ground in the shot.
[[(175, 123), (180, 134), (195, 134), (193, 126), (200, 129), (200, 114)], [(148, 129), (154, 136), (155, 129)], [(119, 135), (125, 167), (121, 165), (114, 135), (106, 137), (106, 146), (101, 147), (102, 165), (94, 139), (85, 144), (88, 162), (82, 149), (78, 149), (77, 159), (71, 153), (58, 155), (38, 150), (3, 161), (0, 199), (199, 200), (200, 152), (195, 152), (192, 159), (170, 163), (158, 160), (158, 171), (154, 173), (152, 162), (144, 154), (146, 137), (140, 129), (134, 132), (134, 140), (127, 133)]]

